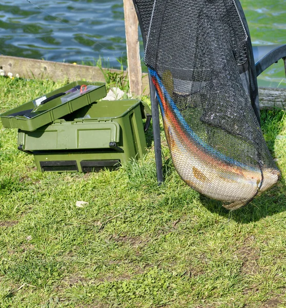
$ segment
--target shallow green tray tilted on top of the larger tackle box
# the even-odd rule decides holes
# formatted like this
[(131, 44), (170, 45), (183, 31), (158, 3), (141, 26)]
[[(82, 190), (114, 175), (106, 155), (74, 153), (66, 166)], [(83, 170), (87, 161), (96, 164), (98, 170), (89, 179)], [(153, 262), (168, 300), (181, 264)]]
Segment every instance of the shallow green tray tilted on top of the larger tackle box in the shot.
[[(83, 87), (80, 89), (81, 86)], [(77, 91), (65, 93), (77, 87)], [(6, 111), (0, 117), (4, 127), (34, 131), (105, 96), (105, 83), (75, 81), (26, 104)]]

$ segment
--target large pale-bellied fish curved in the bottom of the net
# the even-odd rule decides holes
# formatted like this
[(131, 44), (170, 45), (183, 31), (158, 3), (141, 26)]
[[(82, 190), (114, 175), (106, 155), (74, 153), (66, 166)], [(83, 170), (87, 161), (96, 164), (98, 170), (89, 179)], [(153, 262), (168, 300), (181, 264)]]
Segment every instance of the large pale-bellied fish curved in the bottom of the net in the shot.
[(234, 210), (278, 182), (277, 168), (248, 166), (224, 156), (201, 140), (184, 121), (172, 92), (169, 93), (174, 89), (171, 73), (165, 71), (163, 81), (155, 70), (149, 68), (149, 73), (156, 88), (173, 164), (187, 185), (221, 201), (226, 209)]

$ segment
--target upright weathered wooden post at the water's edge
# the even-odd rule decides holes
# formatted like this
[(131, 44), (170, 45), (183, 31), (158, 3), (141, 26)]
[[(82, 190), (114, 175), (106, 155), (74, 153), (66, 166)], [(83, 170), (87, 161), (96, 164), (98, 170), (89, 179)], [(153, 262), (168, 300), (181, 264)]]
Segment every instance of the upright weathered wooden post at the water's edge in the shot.
[(138, 19), (132, 0), (123, 0), (127, 65), (130, 92), (133, 95), (142, 95), (142, 69), (140, 61)]

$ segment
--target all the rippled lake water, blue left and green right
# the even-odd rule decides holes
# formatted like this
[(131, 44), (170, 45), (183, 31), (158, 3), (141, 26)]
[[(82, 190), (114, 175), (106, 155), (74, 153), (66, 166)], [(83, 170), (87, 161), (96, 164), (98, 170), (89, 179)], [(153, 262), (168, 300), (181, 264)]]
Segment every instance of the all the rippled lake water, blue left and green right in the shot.
[[(117, 59), (126, 63), (122, 0), (31, 3), (1, 0), (0, 54), (70, 63), (95, 63), (101, 56), (110, 67), (120, 66)], [(286, 0), (241, 3), (253, 44), (286, 43)], [(260, 84), (286, 87), (282, 61), (261, 76)]]

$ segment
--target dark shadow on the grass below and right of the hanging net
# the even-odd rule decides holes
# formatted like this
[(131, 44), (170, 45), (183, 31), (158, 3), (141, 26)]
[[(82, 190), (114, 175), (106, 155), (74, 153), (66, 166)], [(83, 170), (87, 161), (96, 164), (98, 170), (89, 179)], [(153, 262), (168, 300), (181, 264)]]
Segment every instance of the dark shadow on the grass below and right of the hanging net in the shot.
[[(284, 129), (283, 125), (281, 125), (281, 121), (284, 117), (283, 114), (284, 111), (281, 110), (264, 110), (261, 112), (262, 131), (272, 156), (275, 155), (275, 137)], [(221, 202), (200, 196), (202, 205), (212, 213), (217, 213), (241, 223), (255, 222), (266, 216), (272, 216), (286, 211), (285, 200), (286, 186), (283, 177), (272, 189), (256, 197), (250, 204), (232, 212), (223, 208)]]

